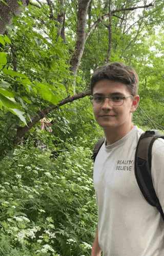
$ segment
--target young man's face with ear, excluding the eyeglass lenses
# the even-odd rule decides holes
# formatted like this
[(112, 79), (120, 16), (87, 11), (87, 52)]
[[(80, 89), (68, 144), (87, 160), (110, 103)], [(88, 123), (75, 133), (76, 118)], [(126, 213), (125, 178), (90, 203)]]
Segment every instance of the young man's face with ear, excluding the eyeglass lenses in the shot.
[[(130, 96), (127, 86), (120, 82), (105, 79), (97, 82), (93, 88), (93, 96), (95, 94), (101, 94), (102, 97), (110, 97), (114, 93), (121, 94), (123, 97)], [(139, 96), (137, 97), (138, 103)], [(135, 111), (137, 106), (138, 104), (136, 104), (135, 100), (133, 101), (133, 97), (124, 99), (124, 104), (121, 106), (112, 106), (111, 103), (109, 103), (109, 100), (105, 99), (103, 105), (93, 106), (93, 112), (95, 120), (101, 127), (117, 128), (124, 126), (126, 123), (128, 124), (129, 122), (132, 122), (132, 113)], [(105, 115), (109, 116), (104, 117)]]

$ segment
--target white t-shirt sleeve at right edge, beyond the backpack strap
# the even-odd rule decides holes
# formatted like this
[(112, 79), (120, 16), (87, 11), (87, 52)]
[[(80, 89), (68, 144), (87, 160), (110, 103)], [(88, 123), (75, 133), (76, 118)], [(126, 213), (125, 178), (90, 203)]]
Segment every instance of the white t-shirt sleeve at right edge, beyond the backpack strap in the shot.
[(161, 138), (153, 143), (151, 174), (156, 195), (164, 212), (164, 140)]

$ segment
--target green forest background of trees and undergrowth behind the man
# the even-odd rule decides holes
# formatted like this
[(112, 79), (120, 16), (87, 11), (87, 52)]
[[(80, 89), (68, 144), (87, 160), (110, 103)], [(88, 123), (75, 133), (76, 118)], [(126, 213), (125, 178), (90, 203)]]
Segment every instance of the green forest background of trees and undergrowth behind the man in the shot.
[[(0, 0), (0, 255), (87, 256), (97, 226), (90, 79), (132, 66), (133, 123), (163, 132), (163, 1)], [(39, 120), (52, 120), (52, 133)], [(38, 141), (46, 145), (39, 150)]]

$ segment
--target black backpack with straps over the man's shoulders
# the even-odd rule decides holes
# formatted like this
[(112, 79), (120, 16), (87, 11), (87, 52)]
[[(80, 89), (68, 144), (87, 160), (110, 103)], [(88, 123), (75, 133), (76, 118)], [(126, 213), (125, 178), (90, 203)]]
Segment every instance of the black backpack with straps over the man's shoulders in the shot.
[[(134, 169), (136, 180), (142, 194), (150, 205), (155, 206), (159, 210), (164, 221), (164, 213), (155, 193), (151, 176), (152, 146), (157, 138), (164, 139), (164, 135), (159, 133), (157, 130), (146, 131), (145, 133), (141, 134), (135, 152)], [(96, 143), (92, 156), (93, 161), (95, 161), (98, 151), (100, 150), (104, 141), (105, 138), (100, 139)]]

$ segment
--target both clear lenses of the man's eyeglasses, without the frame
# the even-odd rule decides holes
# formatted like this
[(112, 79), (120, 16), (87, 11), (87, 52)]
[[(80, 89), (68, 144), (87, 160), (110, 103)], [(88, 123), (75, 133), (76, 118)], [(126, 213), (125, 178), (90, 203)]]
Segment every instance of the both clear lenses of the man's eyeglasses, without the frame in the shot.
[[(91, 100), (93, 106), (101, 106), (104, 102), (104, 98), (100, 96), (93, 96), (93, 99)], [(110, 98), (110, 103), (113, 106), (120, 106), (124, 103), (124, 98), (121, 96), (112, 96)]]

